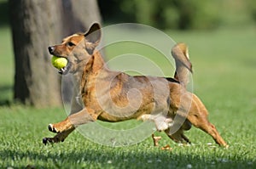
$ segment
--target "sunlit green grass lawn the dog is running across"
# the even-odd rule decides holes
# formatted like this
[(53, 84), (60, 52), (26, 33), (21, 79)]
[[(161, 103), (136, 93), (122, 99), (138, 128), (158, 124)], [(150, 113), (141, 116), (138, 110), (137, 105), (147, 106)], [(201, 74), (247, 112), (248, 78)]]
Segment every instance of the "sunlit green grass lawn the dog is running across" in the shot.
[[(174, 144), (156, 132), (162, 137), (160, 147), (169, 144), (172, 150), (154, 147), (150, 137), (130, 146), (108, 147), (91, 142), (79, 132), (73, 132), (61, 144), (44, 146), (42, 138), (54, 135), (48, 132), (47, 125), (61, 121), (66, 113), (63, 108), (5, 104), (11, 101), (14, 65), (10, 31), (2, 27), (0, 168), (256, 168), (255, 27), (166, 33), (176, 42), (188, 43), (194, 92), (206, 104), (210, 121), (230, 144), (229, 149), (216, 146), (212, 138), (195, 127), (186, 132), (191, 146)], [(110, 48), (107, 54), (118, 52)], [(119, 126), (132, 124), (137, 122)]]

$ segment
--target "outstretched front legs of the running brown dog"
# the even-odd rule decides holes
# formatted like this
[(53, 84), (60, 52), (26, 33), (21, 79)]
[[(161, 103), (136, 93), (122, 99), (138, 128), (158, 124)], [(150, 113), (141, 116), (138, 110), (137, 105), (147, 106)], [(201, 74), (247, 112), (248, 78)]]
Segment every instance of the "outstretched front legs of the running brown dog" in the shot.
[(94, 110), (84, 108), (78, 113), (69, 115), (64, 121), (49, 124), (48, 129), (50, 132), (58, 133), (54, 138), (44, 138), (43, 143), (58, 143), (64, 141), (68, 134), (73, 132), (75, 127), (85, 124), (90, 121), (96, 121), (98, 115), (95, 114)]

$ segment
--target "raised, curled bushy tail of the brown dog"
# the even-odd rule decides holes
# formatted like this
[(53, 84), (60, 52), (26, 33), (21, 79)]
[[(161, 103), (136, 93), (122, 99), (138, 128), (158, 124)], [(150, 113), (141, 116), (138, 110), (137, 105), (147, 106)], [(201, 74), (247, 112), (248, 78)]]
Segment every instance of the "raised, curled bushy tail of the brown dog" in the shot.
[(189, 72), (193, 72), (187, 45), (185, 43), (177, 43), (172, 48), (172, 57), (175, 59), (176, 64), (174, 78), (186, 87), (189, 82)]

